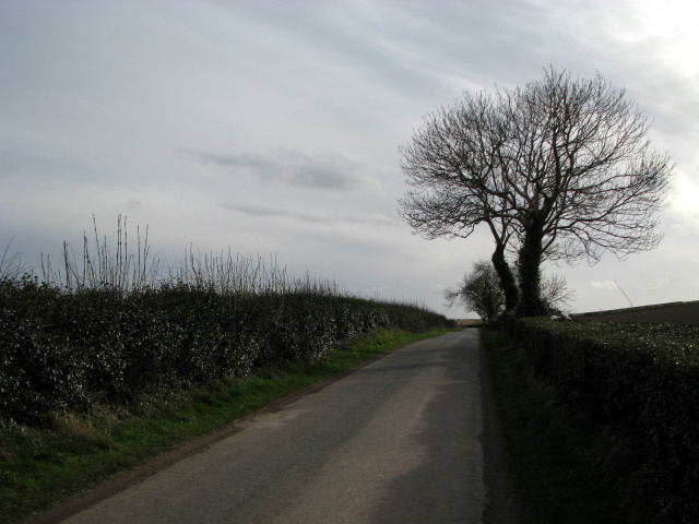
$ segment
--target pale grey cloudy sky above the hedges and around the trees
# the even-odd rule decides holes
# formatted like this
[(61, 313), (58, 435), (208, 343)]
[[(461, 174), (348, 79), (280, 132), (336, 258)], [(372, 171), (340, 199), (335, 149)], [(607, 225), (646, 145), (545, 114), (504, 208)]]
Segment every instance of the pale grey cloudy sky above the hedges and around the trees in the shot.
[(424, 303), (493, 252), (399, 213), (399, 147), (464, 92), (596, 72), (675, 163), (660, 246), (545, 265), (573, 312), (699, 299), (692, 0), (0, 0), (0, 254), (147, 226), (167, 261), (230, 250)]

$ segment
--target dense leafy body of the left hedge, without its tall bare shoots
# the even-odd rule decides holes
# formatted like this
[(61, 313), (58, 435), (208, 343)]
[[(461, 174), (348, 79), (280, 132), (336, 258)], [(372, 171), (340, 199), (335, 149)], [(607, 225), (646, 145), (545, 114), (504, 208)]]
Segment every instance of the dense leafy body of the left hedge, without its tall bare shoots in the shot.
[(0, 418), (22, 424), (308, 361), (379, 326), (446, 322), (417, 307), (312, 290), (224, 295), (188, 285), (66, 294), (3, 281), (0, 303)]

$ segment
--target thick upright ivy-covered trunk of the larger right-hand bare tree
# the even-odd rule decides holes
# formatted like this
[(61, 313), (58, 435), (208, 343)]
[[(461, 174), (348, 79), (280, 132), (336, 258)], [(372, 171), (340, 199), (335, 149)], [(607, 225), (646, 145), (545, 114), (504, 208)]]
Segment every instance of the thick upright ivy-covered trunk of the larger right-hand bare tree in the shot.
[(520, 301), (518, 317), (546, 314), (546, 305), (541, 297), (541, 264), (544, 234), (542, 226), (534, 223), (525, 233), (518, 261), (520, 278)]

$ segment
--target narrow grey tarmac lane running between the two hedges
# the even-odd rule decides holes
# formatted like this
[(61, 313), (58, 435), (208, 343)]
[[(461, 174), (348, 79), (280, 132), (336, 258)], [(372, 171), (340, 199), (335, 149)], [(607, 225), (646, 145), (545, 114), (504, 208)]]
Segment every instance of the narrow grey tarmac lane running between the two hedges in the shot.
[(63, 522), (506, 522), (482, 369), (477, 331), (411, 344)]

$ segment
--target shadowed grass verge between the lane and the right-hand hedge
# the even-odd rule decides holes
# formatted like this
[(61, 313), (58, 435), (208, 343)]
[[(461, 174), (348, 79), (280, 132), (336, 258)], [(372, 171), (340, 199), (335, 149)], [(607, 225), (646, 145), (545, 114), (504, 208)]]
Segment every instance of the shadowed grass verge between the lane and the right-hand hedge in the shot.
[(532, 377), (525, 356), (505, 335), (481, 333), (522, 521), (642, 522), (626, 438), (565, 406), (552, 386)]

